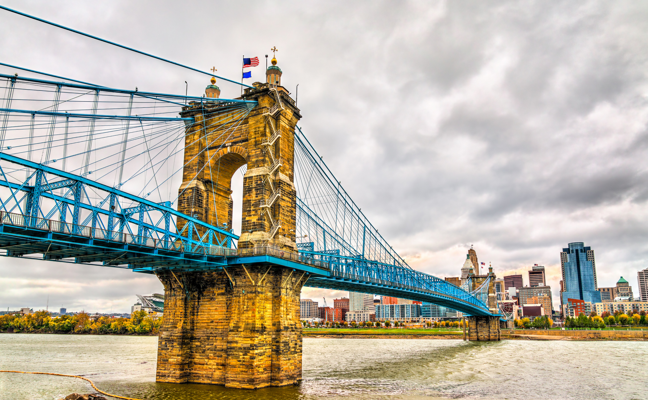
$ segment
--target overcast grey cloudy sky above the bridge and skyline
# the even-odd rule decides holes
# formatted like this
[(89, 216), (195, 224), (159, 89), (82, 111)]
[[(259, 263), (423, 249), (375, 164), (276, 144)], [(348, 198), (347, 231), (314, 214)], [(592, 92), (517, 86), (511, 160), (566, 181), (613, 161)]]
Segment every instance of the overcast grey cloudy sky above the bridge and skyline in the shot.
[[(5, 1), (237, 79), (279, 48), (305, 134), (415, 269), (498, 276), (585, 242), (599, 286), (648, 267), (648, 3)], [(0, 60), (102, 85), (200, 96), (209, 77), (0, 10)], [(0, 72), (19, 72), (0, 67)], [(220, 84), (222, 97), (238, 96)], [(155, 277), (0, 260), (0, 308), (130, 312)], [(527, 277), (525, 276), (527, 284)], [(305, 288), (329, 302), (345, 293)]]

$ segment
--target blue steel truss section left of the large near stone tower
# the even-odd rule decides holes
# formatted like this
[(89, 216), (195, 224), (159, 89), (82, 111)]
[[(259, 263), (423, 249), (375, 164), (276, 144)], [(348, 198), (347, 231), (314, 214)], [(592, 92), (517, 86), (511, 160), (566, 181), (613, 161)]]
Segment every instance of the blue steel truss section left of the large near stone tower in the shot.
[[(23, 182), (6, 174), (6, 163), (30, 169)], [(28, 182), (33, 181), (33, 185)], [(83, 176), (0, 152), (0, 246), (8, 256), (43, 254), (45, 260), (107, 266), (225, 265), (222, 257), (238, 239), (231, 231), (179, 213), (170, 202), (146, 200)], [(90, 196), (92, 190), (93, 196)], [(130, 207), (126, 207), (128, 204)], [(52, 219), (52, 217), (54, 219)], [(178, 222), (182, 221), (181, 229)], [(130, 246), (130, 248), (129, 248)], [(152, 247), (153, 251), (137, 251)]]

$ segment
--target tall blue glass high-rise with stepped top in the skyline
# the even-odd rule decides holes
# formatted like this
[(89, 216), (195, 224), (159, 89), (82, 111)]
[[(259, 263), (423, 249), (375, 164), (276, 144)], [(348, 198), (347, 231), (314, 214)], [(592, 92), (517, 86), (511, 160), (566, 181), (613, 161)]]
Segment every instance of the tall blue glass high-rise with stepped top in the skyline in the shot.
[(591, 247), (585, 247), (583, 242), (568, 244), (561, 252), (561, 266), (563, 304), (567, 299), (579, 299), (592, 304), (601, 302), (601, 292), (596, 290), (596, 264)]

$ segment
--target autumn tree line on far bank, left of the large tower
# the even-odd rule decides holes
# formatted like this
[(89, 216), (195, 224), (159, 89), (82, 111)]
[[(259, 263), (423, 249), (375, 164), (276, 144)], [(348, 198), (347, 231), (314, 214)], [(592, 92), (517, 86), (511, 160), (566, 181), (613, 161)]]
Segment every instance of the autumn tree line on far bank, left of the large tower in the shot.
[(25, 315), (0, 316), (0, 330), (14, 328), (14, 332), (51, 333), (103, 333), (103, 334), (152, 334), (157, 335), (162, 319), (135, 311), (130, 318), (99, 317), (81, 311), (76, 315), (51, 317), (45, 310)]

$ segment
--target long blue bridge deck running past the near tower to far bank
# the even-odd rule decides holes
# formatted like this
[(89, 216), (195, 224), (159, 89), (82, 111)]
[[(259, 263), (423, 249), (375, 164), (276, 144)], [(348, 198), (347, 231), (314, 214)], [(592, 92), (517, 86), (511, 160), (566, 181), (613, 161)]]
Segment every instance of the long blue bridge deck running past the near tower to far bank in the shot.
[(371, 261), (345, 260), (316, 252), (290, 253), (267, 246), (251, 249), (192, 246), (6, 212), (0, 212), (0, 248), (5, 249), (9, 257), (40, 254), (43, 260), (77, 264), (100, 262), (104, 266), (142, 273), (165, 269), (200, 271), (240, 264), (280, 265), (308, 273), (306, 286), (310, 287), (376, 293), (432, 302), (468, 315), (492, 315), (475, 302), (474, 297), (462, 299), (445, 293), (441, 286), (434, 290), (393, 279), (345, 273), (340, 266), (371, 264)]

